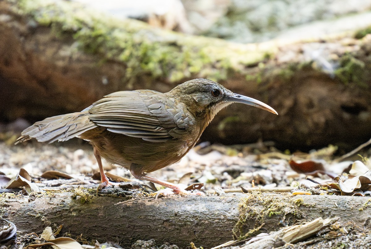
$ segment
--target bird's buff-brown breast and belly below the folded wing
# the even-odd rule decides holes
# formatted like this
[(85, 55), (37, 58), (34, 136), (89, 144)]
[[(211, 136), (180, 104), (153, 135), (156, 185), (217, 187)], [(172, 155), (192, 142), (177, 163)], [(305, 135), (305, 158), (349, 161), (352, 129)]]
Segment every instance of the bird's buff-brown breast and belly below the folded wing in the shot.
[(181, 139), (174, 138), (165, 142), (144, 141), (141, 138), (96, 129), (98, 131), (95, 132), (93, 129), (81, 137), (89, 140), (101, 157), (109, 163), (127, 169), (130, 169), (133, 163), (141, 165), (147, 173), (179, 161), (199, 138), (197, 128), (183, 134)]

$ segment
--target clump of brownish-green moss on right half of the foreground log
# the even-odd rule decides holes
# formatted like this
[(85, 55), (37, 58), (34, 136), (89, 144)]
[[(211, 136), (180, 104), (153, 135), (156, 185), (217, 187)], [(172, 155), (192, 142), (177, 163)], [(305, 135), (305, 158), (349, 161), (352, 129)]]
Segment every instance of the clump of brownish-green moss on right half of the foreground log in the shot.
[[(280, 216), (279, 220), (282, 222), (289, 219), (289, 216), (294, 216), (295, 220), (301, 219), (303, 216), (299, 210), (301, 205), (305, 205), (302, 198), (291, 198), (289, 194), (263, 195), (255, 192), (246, 194), (246, 198), (242, 199), (239, 205), (239, 220), (233, 227), (233, 236), (237, 240), (242, 240), (256, 235), (268, 217)], [(253, 228), (245, 225), (247, 220), (249, 224), (252, 220), (255, 221)]]

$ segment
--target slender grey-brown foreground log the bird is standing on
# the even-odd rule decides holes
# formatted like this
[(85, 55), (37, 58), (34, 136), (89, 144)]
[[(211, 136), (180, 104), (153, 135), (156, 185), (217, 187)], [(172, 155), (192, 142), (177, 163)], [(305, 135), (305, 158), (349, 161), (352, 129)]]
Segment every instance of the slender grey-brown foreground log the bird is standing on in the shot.
[(340, 225), (352, 222), (366, 230), (371, 228), (370, 197), (229, 193), (155, 200), (153, 196), (125, 196), (122, 190), (115, 194), (107, 190), (103, 196), (96, 196), (94, 191), (48, 191), (29, 196), (3, 193), (1, 217), (12, 221), (21, 234), (63, 225), (61, 234), (82, 234), (88, 240), (118, 242), (125, 248), (137, 239), (180, 247), (194, 242), (211, 248), (233, 237), (276, 231), (318, 217), (339, 217)]

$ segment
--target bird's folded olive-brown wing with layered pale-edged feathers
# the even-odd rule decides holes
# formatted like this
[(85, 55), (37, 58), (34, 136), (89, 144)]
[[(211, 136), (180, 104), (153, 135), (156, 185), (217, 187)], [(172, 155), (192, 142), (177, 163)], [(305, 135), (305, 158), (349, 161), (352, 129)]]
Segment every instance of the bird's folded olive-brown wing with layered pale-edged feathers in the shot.
[(120, 91), (106, 95), (84, 111), (108, 131), (151, 142), (164, 142), (187, 132), (194, 118), (160, 92)]

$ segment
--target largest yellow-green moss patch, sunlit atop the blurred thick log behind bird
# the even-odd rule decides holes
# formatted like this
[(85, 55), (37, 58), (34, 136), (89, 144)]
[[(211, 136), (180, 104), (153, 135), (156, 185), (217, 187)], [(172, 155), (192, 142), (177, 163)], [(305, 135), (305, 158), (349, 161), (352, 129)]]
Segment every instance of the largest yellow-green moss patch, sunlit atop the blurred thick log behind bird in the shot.
[(229, 72), (243, 72), (272, 54), (254, 45), (182, 35), (136, 20), (117, 20), (68, 1), (20, 0), (16, 4), (20, 13), (51, 27), (55, 37), (72, 36), (80, 50), (98, 55), (102, 62), (123, 63), (123, 82), (127, 84), (140, 75), (165, 77), (171, 82), (191, 76), (220, 81), (227, 79)]

